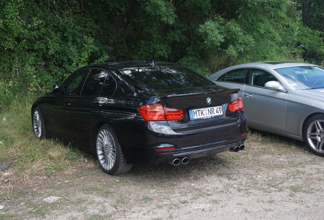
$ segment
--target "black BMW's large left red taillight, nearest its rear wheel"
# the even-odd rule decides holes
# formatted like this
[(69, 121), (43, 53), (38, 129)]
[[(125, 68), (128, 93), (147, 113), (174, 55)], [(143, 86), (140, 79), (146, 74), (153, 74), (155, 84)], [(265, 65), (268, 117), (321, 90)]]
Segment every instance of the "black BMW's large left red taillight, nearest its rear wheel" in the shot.
[(139, 113), (146, 121), (172, 121), (183, 118), (183, 109), (168, 108), (159, 104), (148, 104), (139, 107)]

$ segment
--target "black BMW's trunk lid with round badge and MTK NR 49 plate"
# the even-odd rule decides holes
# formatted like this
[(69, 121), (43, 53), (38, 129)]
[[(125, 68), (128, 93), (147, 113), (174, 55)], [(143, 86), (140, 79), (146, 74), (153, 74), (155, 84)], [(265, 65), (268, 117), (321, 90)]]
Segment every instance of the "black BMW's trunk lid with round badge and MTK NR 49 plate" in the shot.
[[(160, 99), (164, 107), (184, 110), (182, 120), (168, 121), (171, 129), (190, 131), (235, 122), (238, 118), (237, 112), (229, 112), (227, 108), (228, 103), (237, 99), (238, 91), (239, 89), (228, 90), (218, 86), (206, 86), (159, 90), (152, 93)], [(217, 111), (218, 113), (216, 113)]]

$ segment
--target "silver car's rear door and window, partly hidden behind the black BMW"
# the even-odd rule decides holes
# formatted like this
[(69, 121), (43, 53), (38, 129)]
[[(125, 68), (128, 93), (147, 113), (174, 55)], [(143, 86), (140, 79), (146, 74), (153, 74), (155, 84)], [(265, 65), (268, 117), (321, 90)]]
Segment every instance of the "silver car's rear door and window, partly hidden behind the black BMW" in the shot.
[(213, 81), (216, 85), (229, 88), (240, 89), (238, 94), (242, 97), (248, 69), (237, 69), (223, 74)]

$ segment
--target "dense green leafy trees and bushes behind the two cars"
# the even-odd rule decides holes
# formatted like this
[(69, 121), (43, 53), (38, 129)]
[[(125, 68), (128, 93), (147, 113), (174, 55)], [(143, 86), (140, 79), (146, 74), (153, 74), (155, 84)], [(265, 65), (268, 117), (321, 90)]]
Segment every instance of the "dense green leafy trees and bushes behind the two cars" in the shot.
[(153, 59), (203, 75), (254, 61), (321, 64), (321, 2), (305, 26), (300, 0), (0, 0), (0, 108), (93, 63)]

